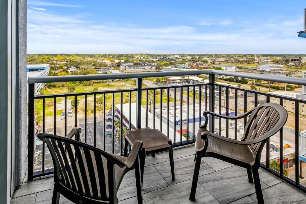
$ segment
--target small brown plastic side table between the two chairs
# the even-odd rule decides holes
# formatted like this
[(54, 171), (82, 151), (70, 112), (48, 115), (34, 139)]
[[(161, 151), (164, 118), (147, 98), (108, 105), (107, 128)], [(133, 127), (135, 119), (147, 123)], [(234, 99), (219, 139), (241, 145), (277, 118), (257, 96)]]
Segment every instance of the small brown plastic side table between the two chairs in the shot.
[(142, 150), (140, 152), (140, 170), (141, 170), (141, 179), (144, 178), (144, 162), (146, 155), (151, 154), (153, 157), (155, 153), (169, 151), (169, 160), (171, 168), (172, 180), (174, 178), (174, 160), (173, 160), (173, 150), (172, 150), (172, 141), (162, 132), (156, 129), (151, 128), (141, 128), (131, 130), (129, 134), (125, 135), (125, 145), (124, 145), (124, 156), (127, 156), (128, 145), (133, 146), (135, 140), (140, 140), (143, 142)]

